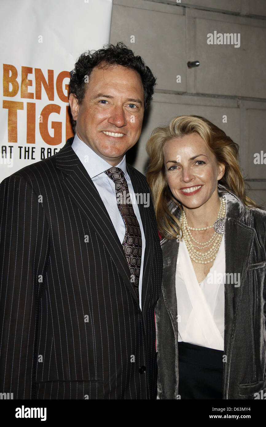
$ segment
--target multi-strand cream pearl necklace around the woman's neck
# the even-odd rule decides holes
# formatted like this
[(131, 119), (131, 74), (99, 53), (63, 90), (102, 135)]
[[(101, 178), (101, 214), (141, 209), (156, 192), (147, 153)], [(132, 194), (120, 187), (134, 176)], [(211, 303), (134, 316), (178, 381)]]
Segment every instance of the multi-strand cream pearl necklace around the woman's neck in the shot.
[[(220, 197), (220, 208), (219, 208), (217, 219), (213, 225), (208, 225), (208, 227), (202, 227), (202, 228), (190, 227), (187, 224), (186, 214), (184, 210), (182, 211), (181, 226), (183, 230), (184, 242), (187, 246), (187, 251), (190, 255), (190, 258), (193, 259), (195, 263), (208, 264), (215, 260), (216, 255), (219, 251), (220, 243), (222, 241), (222, 234), (224, 232), (224, 228), (223, 228), (224, 217), (225, 217), (225, 199), (223, 197)], [(208, 240), (208, 242), (204, 242), (204, 243), (198, 242), (196, 239), (194, 239), (190, 231), (190, 230), (204, 231), (212, 227), (214, 228), (213, 236), (210, 238), (210, 240)], [(205, 252), (205, 253), (199, 252), (194, 248), (195, 246), (198, 249), (204, 249), (209, 247), (210, 245), (212, 246), (210, 247), (208, 252)]]

